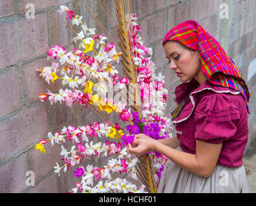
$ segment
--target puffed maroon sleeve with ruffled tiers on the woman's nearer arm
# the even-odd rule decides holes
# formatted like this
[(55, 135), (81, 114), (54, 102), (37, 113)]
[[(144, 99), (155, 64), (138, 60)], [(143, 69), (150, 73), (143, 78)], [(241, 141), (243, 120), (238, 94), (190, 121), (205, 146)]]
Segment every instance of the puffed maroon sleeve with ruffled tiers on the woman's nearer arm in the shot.
[(230, 93), (211, 93), (202, 97), (195, 107), (195, 138), (220, 144), (235, 136), (239, 109)]

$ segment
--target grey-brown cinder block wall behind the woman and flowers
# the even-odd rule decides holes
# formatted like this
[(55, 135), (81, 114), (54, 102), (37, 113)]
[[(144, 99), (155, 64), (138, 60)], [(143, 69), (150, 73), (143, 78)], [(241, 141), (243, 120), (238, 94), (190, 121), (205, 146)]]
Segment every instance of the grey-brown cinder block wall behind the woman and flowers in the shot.
[[(198, 21), (224, 47), (247, 80), (251, 92), (248, 146), (256, 137), (255, 93), (256, 75), (249, 75), (248, 68), (256, 58), (254, 0), (131, 0), (131, 6), (142, 25), (145, 45), (153, 48), (153, 61), (165, 75), (169, 94), (180, 84), (169, 71), (162, 48), (162, 39), (178, 23), (187, 19)], [(100, 13), (96, 1), (87, 0), (94, 12)], [(26, 5), (33, 3), (35, 19), (27, 19)], [(228, 5), (228, 19), (220, 19), (220, 4)], [(100, 121), (91, 109), (79, 106), (67, 108), (64, 104), (42, 104), (37, 97), (47, 88), (58, 91), (61, 83), (48, 85), (36, 69), (51, 64), (47, 60), (45, 44), (60, 44), (69, 50), (72, 32), (65, 28), (65, 17), (59, 16), (59, 5), (66, 5), (83, 15), (86, 23), (94, 25), (91, 16), (80, 0), (10, 0), (0, 3), (0, 192), (67, 192), (74, 187), (72, 173), (54, 173), (54, 165), (60, 159), (60, 148), (47, 145), (46, 154), (41, 154), (34, 145), (47, 138), (48, 131), (56, 131), (67, 124), (86, 125)], [(98, 14), (101, 21), (104, 15)], [(91, 20), (90, 20), (91, 19)], [(250, 73), (250, 72), (249, 72)], [(175, 104), (169, 95), (167, 115)], [(171, 117), (171, 116), (170, 116)], [(95, 164), (103, 160), (94, 160)], [(27, 187), (26, 172), (34, 171), (36, 184)]]

